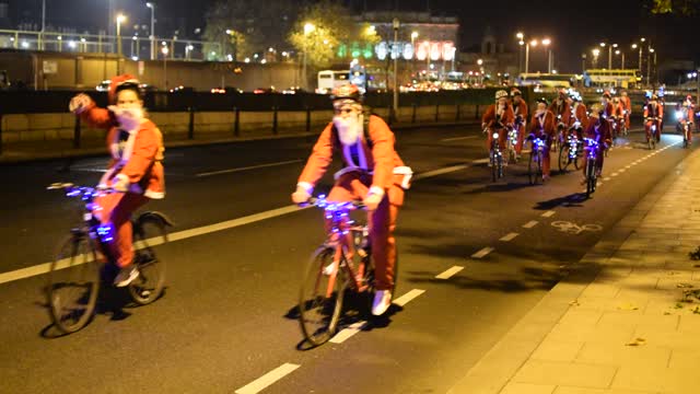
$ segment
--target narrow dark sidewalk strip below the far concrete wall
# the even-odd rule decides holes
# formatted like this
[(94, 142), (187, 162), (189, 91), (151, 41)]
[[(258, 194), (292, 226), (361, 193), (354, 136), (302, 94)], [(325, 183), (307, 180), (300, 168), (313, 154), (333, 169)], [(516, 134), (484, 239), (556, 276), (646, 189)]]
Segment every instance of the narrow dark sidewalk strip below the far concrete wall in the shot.
[[(434, 121), (434, 123), (404, 123), (394, 124), (390, 126), (392, 130), (408, 130), (420, 127), (452, 127), (452, 126), (474, 126), (478, 125), (479, 120), (463, 120), (463, 121)], [(198, 134), (195, 130), (195, 138), (187, 139), (186, 134), (177, 134), (174, 136), (164, 136), (165, 148), (177, 147), (194, 147), (206, 146), (215, 143), (232, 143), (243, 141), (256, 141), (256, 140), (269, 140), (269, 139), (282, 139), (282, 138), (299, 138), (308, 136), (318, 136), (323, 129), (316, 128), (312, 131), (305, 131), (305, 129), (283, 129), (279, 134), (272, 134), (271, 129), (267, 128), (259, 131), (246, 131), (245, 136), (232, 137), (231, 132), (208, 132), (206, 135)], [(107, 154), (106, 142), (102, 139), (83, 139), (81, 140), (81, 148), (73, 148), (73, 140), (51, 140), (51, 141), (24, 141), (24, 142), (4, 142), (2, 144), (2, 153), (0, 153), (0, 164), (22, 163), (36, 160), (50, 160), (50, 159), (69, 159), (69, 158), (82, 158), (82, 157), (104, 157)], [(166, 153), (167, 157), (167, 153)]]

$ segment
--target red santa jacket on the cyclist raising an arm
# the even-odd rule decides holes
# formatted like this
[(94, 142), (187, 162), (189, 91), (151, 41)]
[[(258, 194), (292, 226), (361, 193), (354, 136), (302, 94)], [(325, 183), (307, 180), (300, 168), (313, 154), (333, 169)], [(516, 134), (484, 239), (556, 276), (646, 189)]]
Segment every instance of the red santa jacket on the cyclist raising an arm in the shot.
[(165, 173), (163, 160), (163, 136), (151, 120), (141, 123), (137, 130), (120, 130), (110, 111), (100, 108), (91, 102), (80, 114), (93, 127), (105, 128), (107, 149), (112, 154), (103, 183), (118, 176), (129, 179), (129, 192), (150, 198), (165, 197)]

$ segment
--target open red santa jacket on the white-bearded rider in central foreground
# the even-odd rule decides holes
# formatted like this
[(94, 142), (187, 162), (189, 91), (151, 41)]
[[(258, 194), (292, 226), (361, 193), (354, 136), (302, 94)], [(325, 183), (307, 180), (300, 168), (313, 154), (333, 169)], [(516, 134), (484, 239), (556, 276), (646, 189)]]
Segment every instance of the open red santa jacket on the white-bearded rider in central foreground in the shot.
[[(349, 148), (340, 143), (332, 129), (332, 123), (329, 123), (318, 137), (298, 184), (313, 188), (330, 166), (334, 149), (338, 149), (342, 151), (342, 161), (346, 165), (365, 165), (364, 169), (372, 173), (372, 187), (378, 187), (389, 193), (393, 186), (408, 188), (408, 181), (412, 172), (404, 164), (394, 149), (396, 141), (394, 132), (381, 117), (370, 116), (368, 134), (372, 140), (372, 148), (362, 136), (361, 150), (358, 152), (360, 163), (352, 162), (348, 152)], [(402, 204), (402, 194), (395, 194), (394, 197), (392, 204)]]

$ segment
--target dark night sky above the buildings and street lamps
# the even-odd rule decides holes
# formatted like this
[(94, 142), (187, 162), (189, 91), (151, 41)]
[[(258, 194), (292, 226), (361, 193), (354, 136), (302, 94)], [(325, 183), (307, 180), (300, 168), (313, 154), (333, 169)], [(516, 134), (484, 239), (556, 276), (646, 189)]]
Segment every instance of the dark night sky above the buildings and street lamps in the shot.
[[(2, 1), (2, 0), (0, 0)], [(40, 0), (4, 0), (10, 3), (11, 15), (21, 15), (23, 20), (35, 18), (39, 21)], [(106, 15), (95, 19), (91, 15), (106, 13), (106, 0), (47, 0), (47, 23), (70, 25), (104, 25)], [(184, 26), (189, 33), (195, 27), (203, 27), (203, 11), (214, 3), (213, 0), (156, 0), (159, 14), (167, 12), (172, 26)], [(556, 67), (562, 72), (580, 71), (582, 51), (590, 53), (600, 40), (609, 40), (629, 46), (635, 38), (651, 38), (658, 51), (658, 61), (663, 59), (687, 59), (700, 62), (700, 19), (679, 20), (674, 16), (649, 18), (635, 0), (586, 0), (586, 1), (524, 1), (524, 0), (347, 0), (346, 4), (360, 11), (392, 10), (425, 11), (428, 7), (433, 14), (455, 15), (459, 18), (460, 49), (467, 50), (480, 43), (487, 25), (498, 39), (516, 49), (515, 33), (523, 31), (530, 37), (548, 36), (552, 39)], [(129, 24), (137, 22), (148, 24), (150, 10), (143, 4), (145, 0), (117, 0), (117, 8), (130, 15)], [(82, 12), (75, 12), (79, 9)], [(37, 16), (38, 15), (38, 16)], [(16, 16), (15, 16), (16, 19)], [(104, 22), (100, 21), (101, 19)], [(95, 22), (97, 20), (97, 22)], [(164, 21), (165, 22), (165, 21)], [(697, 27), (696, 27), (697, 26)], [(161, 25), (165, 27), (165, 24)], [(174, 27), (172, 27), (174, 28)], [(159, 32), (159, 35), (162, 34)], [(168, 34), (172, 34), (170, 32)], [(183, 35), (183, 33), (180, 33)], [(696, 38), (696, 39), (693, 39)], [(530, 53), (532, 61), (545, 63), (544, 51)], [(539, 57), (539, 58), (538, 58)], [(632, 61), (632, 54), (627, 55), (627, 62)], [(635, 59), (635, 57), (634, 57)], [(607, 55), (605, 57), (607, 62)], [(634, 60), (634, 65), (637, 61)]]

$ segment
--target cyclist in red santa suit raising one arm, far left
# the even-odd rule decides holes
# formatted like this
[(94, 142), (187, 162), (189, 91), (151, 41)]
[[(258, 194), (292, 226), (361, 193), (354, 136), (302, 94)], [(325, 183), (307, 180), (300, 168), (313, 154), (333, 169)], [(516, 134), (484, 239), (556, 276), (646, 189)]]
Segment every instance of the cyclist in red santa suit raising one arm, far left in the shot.
[(120, 268), (114, 283), (129, 285), (139, 276), (133, 264), (131, 215), (151, 198), (165, 197), (163, 136), (143, 108), (139, 81), (132, 76), (112, 79), (109, 106), (100, 108), (86, 94), (70, 101), (71, 112), (94, 127), (108, 130), (107, 149), (112, 155), (107, 172), (100, 184), (119, 193), (95, 199), (102, 208), (95, 211), (103, 224), (112, 224), (113, 241), (108, 254)]

